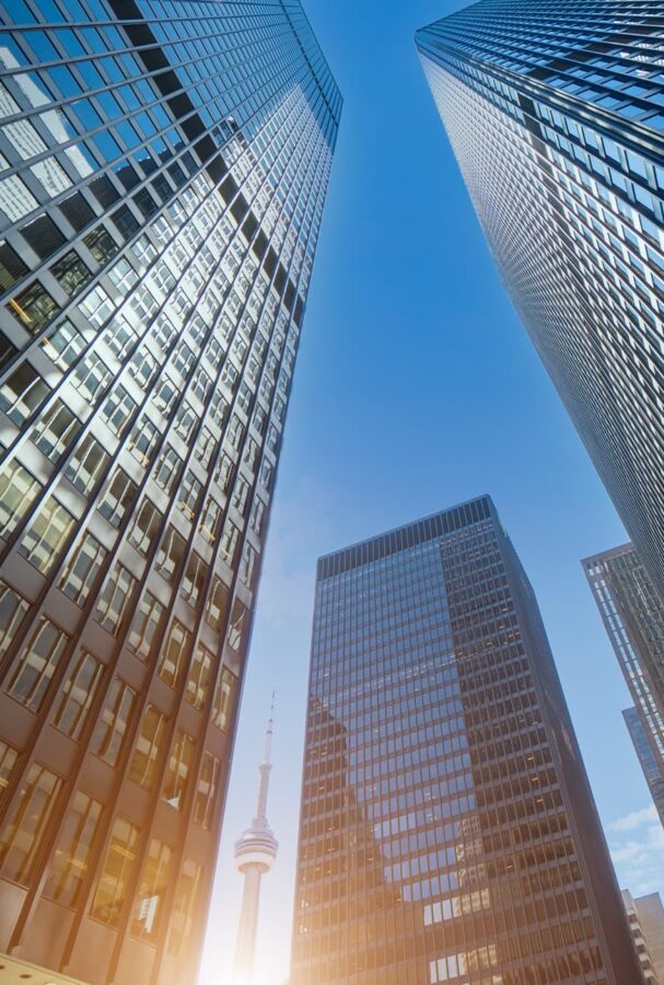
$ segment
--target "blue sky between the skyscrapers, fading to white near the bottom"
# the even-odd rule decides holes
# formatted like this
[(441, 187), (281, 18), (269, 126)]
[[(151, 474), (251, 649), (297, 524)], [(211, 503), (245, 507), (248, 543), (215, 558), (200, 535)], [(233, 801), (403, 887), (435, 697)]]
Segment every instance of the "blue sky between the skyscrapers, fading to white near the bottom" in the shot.
[(412, 44), (463, 5), (304, 0), (345, 97), (267, 544), (201, 985), (230, 985), (277, 691), (257, 985), (288, 976), (316, 558), (489, 493), (533, 582), (621, 885), (664, 891), (664, 832), (580, 558), (626, 540), (494, 270)]

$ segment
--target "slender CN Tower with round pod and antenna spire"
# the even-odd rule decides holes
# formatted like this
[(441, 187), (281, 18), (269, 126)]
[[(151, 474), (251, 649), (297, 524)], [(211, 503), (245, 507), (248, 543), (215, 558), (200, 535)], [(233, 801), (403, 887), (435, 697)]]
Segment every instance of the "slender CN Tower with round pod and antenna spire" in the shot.
[(256, 928), (258, 924), (258, 902), (260, 897), (260, 880), (269, 872), (277, 860), (279, 843), (267, 823), (267, 793), (270, 783), (270, 752), (272, 745), (272, 716), (265, 735), (265, 755), (260, 764), (260, 785), (256, 815), (252, 824), (235, 843), (235, 868), (244, 876), (242, 909), (237, 943), (235, 946), (235, 963), (233, 967), (233, 985), (251, 985), (254, 975), (254, 953), (256, 950)]

